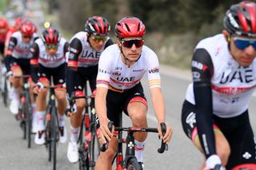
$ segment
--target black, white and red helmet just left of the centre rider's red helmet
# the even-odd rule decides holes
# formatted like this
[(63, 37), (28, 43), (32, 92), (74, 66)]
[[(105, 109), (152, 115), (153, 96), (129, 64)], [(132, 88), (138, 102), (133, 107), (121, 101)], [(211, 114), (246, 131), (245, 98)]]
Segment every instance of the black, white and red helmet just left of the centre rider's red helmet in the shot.
[(106, 18), (94, 16), (86, 21), (85, 30), (95, 36), (107, 36), (110, 33), (110, 24)]

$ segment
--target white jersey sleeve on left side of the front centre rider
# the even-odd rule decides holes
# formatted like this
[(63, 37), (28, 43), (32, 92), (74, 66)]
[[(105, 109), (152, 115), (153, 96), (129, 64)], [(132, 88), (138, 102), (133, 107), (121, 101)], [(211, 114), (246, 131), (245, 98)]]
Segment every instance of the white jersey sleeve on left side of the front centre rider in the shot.
[(96, 80), (96, 87), (104, 87), (108, 89), (110, 85), (110, 73), (111, 73), (111, 53), (108, 49), (105, 49), (101, 54), (98, 61), (98, 75)]

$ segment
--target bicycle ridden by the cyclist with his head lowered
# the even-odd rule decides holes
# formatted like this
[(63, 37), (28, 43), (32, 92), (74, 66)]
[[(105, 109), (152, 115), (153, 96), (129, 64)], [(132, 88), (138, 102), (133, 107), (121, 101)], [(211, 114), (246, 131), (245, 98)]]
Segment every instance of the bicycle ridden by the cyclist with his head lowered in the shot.
[(45, 117), (45, 139), (48, 149), (48, 161), (52, 162), (53, 169), (56, 169), (57, 143), (59, 140), (58, 111), (56, 107), (55, 88), (62, 88), (62, 85), (49, 85), (40, 88), (50, 89), (49, 101), (46, 106)]

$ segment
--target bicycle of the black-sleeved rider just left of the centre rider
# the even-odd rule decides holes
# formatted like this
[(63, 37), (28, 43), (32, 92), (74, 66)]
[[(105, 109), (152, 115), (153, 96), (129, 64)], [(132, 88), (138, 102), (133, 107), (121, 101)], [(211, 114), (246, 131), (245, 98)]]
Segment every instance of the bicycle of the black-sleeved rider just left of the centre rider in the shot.
[[(75, 104), (75, 99), (79, 99), (79, 98), (86, 99), (85, 112), (82, 114), (82, 124), (80, 126), (80, 132), (78, 136), (79, 169), (94, 170), (95, 160), (96, 160), (96, 157), (98, 157), (100, 152), (100, 146), (99, 146), (98, 136), (97, 136), (98, 123), (97, 123), (97, 116), (94, 109), (94, 95), (70, 97), (71, 109)], [(66, 112), (70, 112), (70, 110), (67, 109)], [(83, 129), (85, 130), (84, 132), (83, 132)]]

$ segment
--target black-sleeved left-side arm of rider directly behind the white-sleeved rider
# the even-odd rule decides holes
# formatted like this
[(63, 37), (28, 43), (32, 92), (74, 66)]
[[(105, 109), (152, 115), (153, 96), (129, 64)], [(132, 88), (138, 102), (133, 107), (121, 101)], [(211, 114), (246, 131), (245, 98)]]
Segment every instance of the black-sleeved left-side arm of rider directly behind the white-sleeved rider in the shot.
[(66, 87), (69, 97), (74, 92), (74, 80), (78, 70), (78, 57), (82, 53), (82, 43), (78, 38), (70, 42), (69, 60), (67, 64)]

